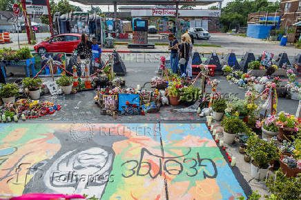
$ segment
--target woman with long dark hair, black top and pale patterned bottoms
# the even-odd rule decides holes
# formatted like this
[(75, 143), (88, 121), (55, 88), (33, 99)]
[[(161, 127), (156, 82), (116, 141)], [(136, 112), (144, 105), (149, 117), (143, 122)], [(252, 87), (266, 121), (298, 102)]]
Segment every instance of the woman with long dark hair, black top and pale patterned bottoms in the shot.
[(92, 42), (86, 34), (81, 34), (81, 42), (76, 48), (77, 63), (81, 63), (81, 77), (84, 77), (85, 68), (89, 70), (90, 60), (92, 58)]

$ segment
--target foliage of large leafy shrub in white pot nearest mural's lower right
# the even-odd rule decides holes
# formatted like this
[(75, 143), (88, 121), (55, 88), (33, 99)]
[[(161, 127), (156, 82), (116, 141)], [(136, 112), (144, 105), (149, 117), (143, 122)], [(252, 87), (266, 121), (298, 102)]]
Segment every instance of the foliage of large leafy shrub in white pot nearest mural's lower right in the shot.
[(279, 149), (273, 141), (268, 142), (259, 139), (258, 135), (253, 133), (246, 141), (246, 153), (253, 159), (255, 166), (258, 168), (268, 168), (271, 161), (278, 160)]

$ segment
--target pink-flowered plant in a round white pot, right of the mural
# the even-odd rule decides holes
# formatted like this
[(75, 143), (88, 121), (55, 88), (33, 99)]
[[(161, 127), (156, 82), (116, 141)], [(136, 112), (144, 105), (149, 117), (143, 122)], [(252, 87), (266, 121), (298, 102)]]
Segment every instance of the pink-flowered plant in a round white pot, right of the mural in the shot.
[(276, 125), (276, 120), (275, 115), (272, 115), (262, 121), (262, 139), (271, 139), (278, 134), (279, 128)]

